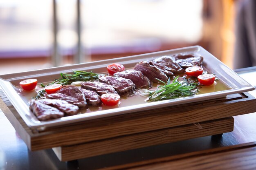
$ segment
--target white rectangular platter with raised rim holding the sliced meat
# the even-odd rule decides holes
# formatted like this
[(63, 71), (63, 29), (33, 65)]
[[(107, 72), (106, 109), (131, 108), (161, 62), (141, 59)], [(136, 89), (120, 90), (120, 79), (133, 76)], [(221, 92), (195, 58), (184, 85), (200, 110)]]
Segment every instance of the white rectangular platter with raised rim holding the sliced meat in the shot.
[[(22, 92), (19, 82), (24, 79), (35, 78), (38, 79), (38, 84), (45, 82), (52, 82), (54, 79), (60, 78), (60, 73), (72, 73), (72, 70), (92, 71), (93, 73), (106, 73), (106, 67), (112, 63), (123, 64), (126, 68), (132, 68), (140, 61), (153, 60), (164, 55), (174, 55), (178, 53), (183, 54), (197, 54), (204, 57), (203, 66), (209, 70), (210, 73), (215, 73), (216, 76), (226, 84), (229, 89), (211, 93), (198, 94), (191, 97), (181, 97), (177, 99), (168, 99), (158, 102), (145, 102), (142, 104), (131, 104), (130, 106), (115, 107), (106, 110), (96, 110), (92, 112), (85, 112), (79, 115), (62, 117), (59, 119), (49, 121), (38, 121), (36, 116), (29, 110), (29, 99), (36, 95), (34, 92)], [(159, 51), (154, 53), (147, 53), (142, 55), (134, 55), (129, 57), (121, 57), (110, 60), (102, 60), (97, 62), (89, 62), (83, 64), (74, 64), (70, 66), (61, 66), (54, 68), (47, 68), (35, 71), (28, 71), (23, 73), (13, 73), (7, 75), (0, 75), (0, 86), (7, 95), (11, 104), (16, 108), (22, 119), (30, 128), (43, 129), (50, 126), (59, 126), (70, 124), (78, 121), (86, 121), (89, 119), (97, 119), (101, 117), (108, 117), (113, 115), (127, 114), (141, 110), (150, 110), (155, 108), (162, 108), (192, 102), (199, 102), (209, 99), (216, 99), (225, 97), (233, 93), (242, 93), (254, 90), (254, 87), (237, 75), (234, 71), (228, 68), (225, 64), (220, 62), (216, 57), (211, 55), (201, 46), (190, 46), (180, 49), (172, 49), (167, 51)], [(36, 89), (38, 90), (38, 89)], [(171, 115), (170, 115), (171, 116)]]

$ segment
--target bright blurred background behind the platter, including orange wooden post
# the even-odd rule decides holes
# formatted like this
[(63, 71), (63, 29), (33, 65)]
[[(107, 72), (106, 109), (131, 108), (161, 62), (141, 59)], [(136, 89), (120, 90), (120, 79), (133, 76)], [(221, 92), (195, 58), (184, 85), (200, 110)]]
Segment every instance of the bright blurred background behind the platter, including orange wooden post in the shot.
[(239, 0), (0, 0), (0, 74), (200, 45), (232, 68)]

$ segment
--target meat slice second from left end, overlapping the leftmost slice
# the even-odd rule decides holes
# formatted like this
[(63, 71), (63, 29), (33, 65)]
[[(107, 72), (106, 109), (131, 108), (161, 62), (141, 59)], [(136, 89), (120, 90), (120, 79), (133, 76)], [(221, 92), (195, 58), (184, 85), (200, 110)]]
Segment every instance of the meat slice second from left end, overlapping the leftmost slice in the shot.
[(79, 110), (78, 106), (70, 104), (61, 99), (40, 99), (38, 100), (38, 102), (47, 104), (48, 106), (52, 106), (54, 108), (57, 108), (58, 110), (61, 110), (65, 113), (65, 116), (76, 115)]

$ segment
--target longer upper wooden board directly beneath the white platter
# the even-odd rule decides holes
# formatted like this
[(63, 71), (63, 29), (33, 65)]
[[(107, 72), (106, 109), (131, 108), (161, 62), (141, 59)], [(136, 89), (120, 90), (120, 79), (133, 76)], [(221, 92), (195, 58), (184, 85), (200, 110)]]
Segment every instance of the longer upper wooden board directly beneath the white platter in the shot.
[(124, 115), (32, 130), (0, 91), (0, 107), (30, 150), (72, 146), (125, 135), (183, 126), (256, 112), (256, 99), (249, 93), (171, 106)]

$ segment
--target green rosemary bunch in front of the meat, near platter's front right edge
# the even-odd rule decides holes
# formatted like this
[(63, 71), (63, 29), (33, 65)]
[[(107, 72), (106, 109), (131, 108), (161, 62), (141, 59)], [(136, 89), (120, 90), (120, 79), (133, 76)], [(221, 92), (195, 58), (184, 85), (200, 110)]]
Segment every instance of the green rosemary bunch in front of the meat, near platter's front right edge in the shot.
[(186, 80), (179, 82), (178, 77), (175, 77), (171, 83), (170, 78), (167, 83), (157, 79), (159, 82), (162, 82), (164, 85), (158, 86), (157, 90), (150, 93), (147, 101), (154, 102), (159, 100), (174, 99), (178, 97), (193, 96), (198, 93), (198, 84), (190, 83)]

